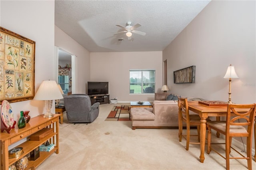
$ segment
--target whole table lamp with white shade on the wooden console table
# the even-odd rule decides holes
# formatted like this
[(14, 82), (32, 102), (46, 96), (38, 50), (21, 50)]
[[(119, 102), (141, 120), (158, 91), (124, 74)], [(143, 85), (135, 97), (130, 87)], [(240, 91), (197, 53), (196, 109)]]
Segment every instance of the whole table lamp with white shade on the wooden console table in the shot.
[(44, 80), (39, 86), (34, 100), (44, 100), (47, 113), (44, 114), (44, 118), (53, 117), (51, 113), (52, 100), (62, 99), (63, 96), (58, 88), (57, 83), (54, 80)]

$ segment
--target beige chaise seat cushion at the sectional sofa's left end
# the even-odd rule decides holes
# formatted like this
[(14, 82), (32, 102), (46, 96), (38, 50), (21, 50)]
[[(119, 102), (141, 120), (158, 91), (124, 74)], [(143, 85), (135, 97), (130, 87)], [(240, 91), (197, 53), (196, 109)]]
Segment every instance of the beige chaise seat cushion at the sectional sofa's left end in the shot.
[(132, 120), (155, 120), (153, 108), (131, 108)]

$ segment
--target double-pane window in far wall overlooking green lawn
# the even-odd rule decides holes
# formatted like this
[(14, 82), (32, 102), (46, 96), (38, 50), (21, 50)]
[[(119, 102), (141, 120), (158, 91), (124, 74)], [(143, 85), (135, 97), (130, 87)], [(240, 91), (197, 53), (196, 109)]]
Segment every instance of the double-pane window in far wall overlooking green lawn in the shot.
[(156, 70), (130, 70), (130, 93), (155, 92)]

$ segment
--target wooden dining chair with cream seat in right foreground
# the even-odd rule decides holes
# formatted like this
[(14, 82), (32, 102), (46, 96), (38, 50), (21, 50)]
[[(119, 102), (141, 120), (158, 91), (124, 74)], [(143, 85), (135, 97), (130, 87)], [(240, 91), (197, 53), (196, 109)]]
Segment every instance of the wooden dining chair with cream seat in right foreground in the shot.
[[(246, 113), (239, 113), (237, 109), (248, 109)], [(230, 116), (230, 113), (235, 114), (235, 116)], [(210, 121), (207, 122), (208, 128), (208, 148), (207, 153), (210, 154), (211, 150), (214, 150), (211, 146), (211, 129), (216, 130), (226, 136), (226, 157), (221, 155), (218, 151), (214, 150), (222, 158), (226, 159), (226, 169), (229, 170), (229, 160), (230, 159), (246, 159), (248, 169), (252, 170), (252, 128), (255, 116), (255, 104), (228, 104), (226, 121)], [(246, 137), (246, 153), (245, 157), (236, 149), (234, 149), (232, 144), (232, 137)], [(231, 148), (235, 150), (240, 157), (230, 157)]]

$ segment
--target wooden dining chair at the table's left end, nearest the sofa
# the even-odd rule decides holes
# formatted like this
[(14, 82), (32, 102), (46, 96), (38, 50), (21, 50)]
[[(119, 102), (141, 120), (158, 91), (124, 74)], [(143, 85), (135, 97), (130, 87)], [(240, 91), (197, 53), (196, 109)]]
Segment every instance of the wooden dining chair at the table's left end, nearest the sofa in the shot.
[[(186, 139), (186, 150), (189, 148), (189, 144), (200, 144), (200, 116), (198, 114), (189, 114), (188, 100), (187, 98), (178, 98), (178, 124), (179, 124), (179, 138), (180, 142), (182, 137)], [(210, 121), (210, 119), (206, 119)], [(187, 134), (182, 135), (182, 122), (186, 122)], [(190, 135), (190, 126), (197, 126), (197, 135)], [(190, 142), (190, 136), (198, 136), (198, 142)]]

